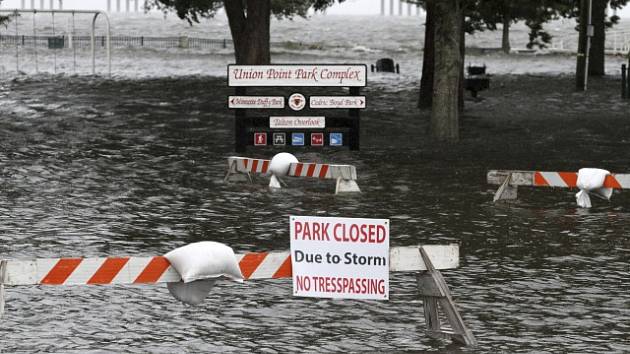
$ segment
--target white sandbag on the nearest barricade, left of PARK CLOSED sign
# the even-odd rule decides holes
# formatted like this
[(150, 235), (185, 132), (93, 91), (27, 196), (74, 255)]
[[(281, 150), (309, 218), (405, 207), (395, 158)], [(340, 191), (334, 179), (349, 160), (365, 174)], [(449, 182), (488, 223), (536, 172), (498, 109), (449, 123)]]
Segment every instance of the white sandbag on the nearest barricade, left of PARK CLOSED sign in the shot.
[(191, 243), (165, 254), (164, 257), (171, 262), (184, 283), (220, 276), (243, 281), (234, 251), (219, 242)]

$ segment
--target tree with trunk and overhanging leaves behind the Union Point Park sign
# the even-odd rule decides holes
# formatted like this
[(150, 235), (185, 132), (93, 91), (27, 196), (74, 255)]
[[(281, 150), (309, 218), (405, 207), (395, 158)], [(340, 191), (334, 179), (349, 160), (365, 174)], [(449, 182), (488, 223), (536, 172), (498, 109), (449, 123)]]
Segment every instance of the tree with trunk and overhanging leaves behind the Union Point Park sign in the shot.
[[(344, 0), (338, 0), (343, 2)], [(212, 17), (225, 9), (234, 42), (237, 64), (268, 64), (270, 55), (270, 18), (302, 16), (310, 8), (316, 11), (332, 5), (335, 0), (153, 0), (153, 6), (164, 11), (174, 10), (190, 24), (200, 18)]]

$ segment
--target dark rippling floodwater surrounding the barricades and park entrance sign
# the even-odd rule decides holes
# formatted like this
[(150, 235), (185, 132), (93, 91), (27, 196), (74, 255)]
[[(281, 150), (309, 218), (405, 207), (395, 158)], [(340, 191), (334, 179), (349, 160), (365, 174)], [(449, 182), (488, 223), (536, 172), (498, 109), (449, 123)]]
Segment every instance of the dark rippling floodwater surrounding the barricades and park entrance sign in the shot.
[[(214, 78), (38, 77), (0, 84), (2, 258), (155, 255), (200, 240), (287, 249), (289, 215), (391, 219), (392, 245), (461, 245), (445, 271), (479, 352), (630, 351), (630, 193), (576, 208), (569, 190), (493, 204), (488, 169), (630, 172), (618, 81), (495, 77), (467, 101), (462, 140), (426, 138), (413, 87), (366, 90), (362, 150), (296, 150), (357, 166), (360, 195), (290, 180), (222, 181), (230, 91)], [(201, 93), (201, 94), (200, 94)], [(273, 150), (248, 155), (271, 157)], [(290, 280), (225, 282), (199, 307), (165, 286), (10, 287), (0, 351), (457, 350), (426, 336), (414, 275), (391, 301), (292, 298)]]

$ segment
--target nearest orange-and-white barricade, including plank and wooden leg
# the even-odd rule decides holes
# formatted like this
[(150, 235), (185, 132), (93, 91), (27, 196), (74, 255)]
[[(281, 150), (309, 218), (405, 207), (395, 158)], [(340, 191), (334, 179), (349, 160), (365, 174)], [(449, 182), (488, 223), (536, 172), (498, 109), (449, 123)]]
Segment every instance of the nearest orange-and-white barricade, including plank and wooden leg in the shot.
[[(244, 253), (237, 254), (236, 258), (246, 281), (292, 276), (289, 251)], [(456, 244), (390, 248), (391, 272), (422, 272), (418, 275), (418, 288), (425, 303), (428, 333), (474, 345), (475, 338), (461, 320), (439, 272), (458, 266), (459, 246)], [(0, 260), (0, 315), (4, 310), (5, 286), (151, 285), (180, 280), (179, 273), (162, 256)], [(437, 303), (445, 309), (451, 328), (442, 328), (434, 318)]]

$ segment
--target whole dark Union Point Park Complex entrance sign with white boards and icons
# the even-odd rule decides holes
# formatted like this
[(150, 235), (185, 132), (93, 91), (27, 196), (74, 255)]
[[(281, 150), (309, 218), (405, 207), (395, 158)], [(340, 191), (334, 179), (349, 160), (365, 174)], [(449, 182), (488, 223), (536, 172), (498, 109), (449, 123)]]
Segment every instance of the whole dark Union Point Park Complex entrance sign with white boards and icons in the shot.
[[(359, 149), (359, 110), (366, 107), (365, 96), (360, 95), (360, 88), (367, 85), (363, 64), (228, 65), (228, 85), (235, 88), (235, 95), (228, 97), (228, 108), (235, 111), (237, 152), (252, 145)], [(283, 96), (248, 95), (248, 90), (259, 87), (292, 90), (285, 89)], [(349, 94), (309, 96), (298, 92), (305, 87), (347, 87)], [(327, 110), (325, 115), (322, 109)], [(248, 110), (274, 113), (248, 114)]]

